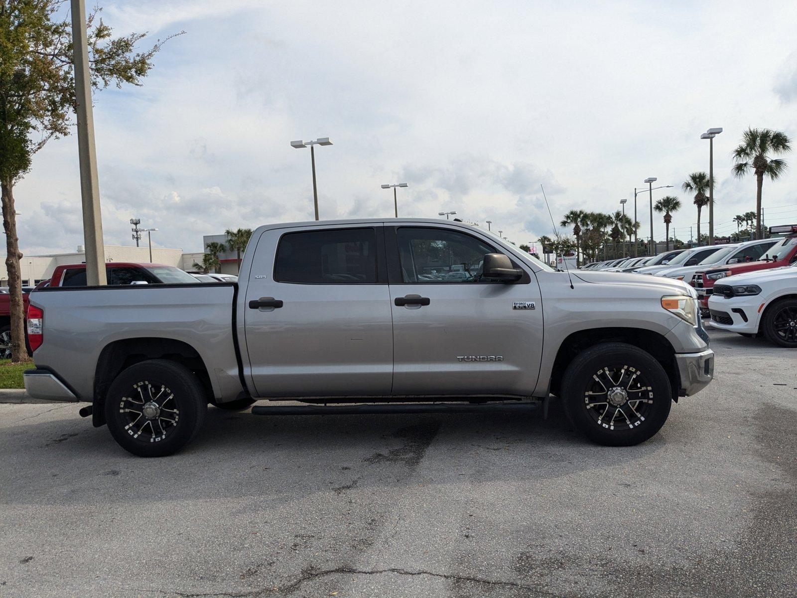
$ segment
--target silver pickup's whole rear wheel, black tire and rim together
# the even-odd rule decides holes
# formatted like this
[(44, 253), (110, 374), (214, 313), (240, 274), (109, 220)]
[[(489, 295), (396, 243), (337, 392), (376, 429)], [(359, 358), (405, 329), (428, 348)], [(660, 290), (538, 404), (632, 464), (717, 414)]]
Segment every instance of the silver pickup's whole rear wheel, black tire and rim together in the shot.
[(185, 447), (202, 427), (206, 411), (205, 389), (197, 376), (169, 360), (130, 366), (116, 376), (105, 397), (108, 430), (124, 450), (139, 457), (165, 457)]

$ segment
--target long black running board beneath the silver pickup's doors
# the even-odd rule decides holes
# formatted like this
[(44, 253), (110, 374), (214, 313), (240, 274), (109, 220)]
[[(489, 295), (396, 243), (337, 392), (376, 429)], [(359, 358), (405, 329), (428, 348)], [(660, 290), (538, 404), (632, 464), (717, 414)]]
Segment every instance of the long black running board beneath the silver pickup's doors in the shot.
[(364, 405), (255, 405), (253, 415), (372, 415), (380, 413), (523, 413), (539, 407), (519, 403), (367, 403)]

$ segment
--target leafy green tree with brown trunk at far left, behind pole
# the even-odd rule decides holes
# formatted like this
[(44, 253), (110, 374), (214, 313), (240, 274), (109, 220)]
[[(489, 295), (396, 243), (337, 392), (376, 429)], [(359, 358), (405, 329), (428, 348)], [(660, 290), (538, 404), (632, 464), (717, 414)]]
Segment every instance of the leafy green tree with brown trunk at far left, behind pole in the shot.
[[(0, 0), (0, 187), (6, 232), (11, 311), (11, 360), (26, 359), (22, 278), (14, 185), (30, 170), (33, 155), (51, 139), (69, 135), (75, 104), (72, 25), (66, 0)], [(95, 8), (88, 15), (88, 52), (94, 91), (108, 85), (141, 85), (157, 41), (135, 47), (146, 33), (114, 37)], [(165, 40), (164, 40), (165, 41)]]

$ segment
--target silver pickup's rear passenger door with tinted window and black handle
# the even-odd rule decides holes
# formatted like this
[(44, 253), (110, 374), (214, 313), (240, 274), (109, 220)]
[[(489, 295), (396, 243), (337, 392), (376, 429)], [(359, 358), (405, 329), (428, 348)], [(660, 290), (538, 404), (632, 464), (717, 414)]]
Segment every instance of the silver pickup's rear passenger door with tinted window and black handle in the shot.
[(257, 395), (390, 394), (383, 227), (272, 229), (249, 246), (243, 312)]

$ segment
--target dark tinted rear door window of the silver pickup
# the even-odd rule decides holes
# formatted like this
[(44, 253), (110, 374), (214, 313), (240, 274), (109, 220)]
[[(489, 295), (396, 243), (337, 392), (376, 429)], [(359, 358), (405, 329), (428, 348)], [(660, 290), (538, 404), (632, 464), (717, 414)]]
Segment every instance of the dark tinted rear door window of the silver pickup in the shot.
[(277, 246), (274, 280), (375, 284), (376, 232), (372, 228), (344, 228), (284, 234)]

